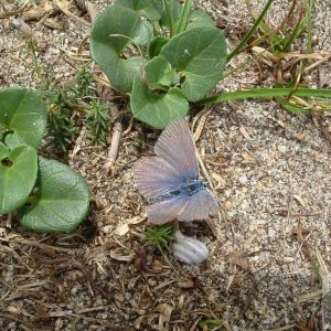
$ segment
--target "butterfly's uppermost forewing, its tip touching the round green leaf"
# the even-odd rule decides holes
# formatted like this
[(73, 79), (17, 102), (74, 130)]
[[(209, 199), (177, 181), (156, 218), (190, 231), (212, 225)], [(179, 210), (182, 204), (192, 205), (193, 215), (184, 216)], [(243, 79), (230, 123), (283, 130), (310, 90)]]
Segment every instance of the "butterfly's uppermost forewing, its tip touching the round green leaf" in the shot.
[(171, 164), (185, 179), (199, 178), (199, 163), (190, 128), (183, 118), (175, 119), (160, 135), (156, 154)]

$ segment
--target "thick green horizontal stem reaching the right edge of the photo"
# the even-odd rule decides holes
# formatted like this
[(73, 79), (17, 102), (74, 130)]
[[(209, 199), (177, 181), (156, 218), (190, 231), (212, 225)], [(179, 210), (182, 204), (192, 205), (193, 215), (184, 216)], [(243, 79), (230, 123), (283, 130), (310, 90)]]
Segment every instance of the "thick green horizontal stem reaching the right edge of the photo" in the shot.
[[(225, 92), (220, 95), (207, 97), (195, 103), (195, 105), (218, 104), (223, 102), (236, 99), (271, 99), (278, 97), (287, 97), (292, 92), (292, 88), (254, 88), (235, 92)], [(312, 89), (312, 88), (298, 88), (295, 94), (297, 97), (321, 97), (331, 98), (331, 89)]]

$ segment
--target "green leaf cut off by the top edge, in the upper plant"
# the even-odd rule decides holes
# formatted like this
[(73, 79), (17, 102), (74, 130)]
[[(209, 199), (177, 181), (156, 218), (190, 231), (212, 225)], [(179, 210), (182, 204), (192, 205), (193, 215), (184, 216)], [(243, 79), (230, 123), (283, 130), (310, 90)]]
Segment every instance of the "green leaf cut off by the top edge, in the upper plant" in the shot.
[(118, 0), (116, 4), (142, 12), (150, 21), (158, 21), (162, 17), (162, 0)]

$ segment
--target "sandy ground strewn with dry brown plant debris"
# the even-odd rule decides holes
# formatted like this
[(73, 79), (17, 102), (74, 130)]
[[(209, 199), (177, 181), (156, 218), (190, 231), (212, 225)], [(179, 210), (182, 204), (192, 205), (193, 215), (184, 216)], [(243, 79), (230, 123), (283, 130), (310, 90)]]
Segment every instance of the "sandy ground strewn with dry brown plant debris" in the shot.
[[(229, 49), (253, 23), (245, 1), (197, 6), (225, 29)], [(317, 1), (316, 52), (330, 52), (330, 7), (328, 0)], [(88, 21), (77, 6), (71, 8)], [(288, 1), (276, 1), (270, 23), (277, 24), (288, 8)], [(36, 88), (45, 78), (73, 79), (73, 66), (82, 62), (70, 55), (88, 28), (61, 12), (29, 21), (43, 46), (33, 56), (12, 19), (0, 24), (0, 87)], [(298, 51), (303, 43), (305, 36)], [(88, 54), (87, 45), (84, 50)], [(250, 56), (238, 55), (227, 70)], [(330, 72), (325, 62), (305, 82), (330, 88)], [(273, 82), (273, 68), (252, 61), (218, 89)], [(214, 233), (204, 223), (183, 226), (206, 243), (209, 261), (191, 267), (170, 253), (141, 249), (146, 202), (135, 186), (132, 164), (152, 153), (159, 132), (139, 122), (129, 128), (130, 118), (124, 117), (116, 167), (105, 174), (107, 149), (89, 148), (82, 128), (78, 153), (64, 161), (90, 184), (88, 220), (71, 235), (41, 236), (14, 218), (0, 218), (1, 330), (199, 330), (204, 318), (220, 320), (213, 330), (322, 330), (317, 270), (321, 263), (331, 270), (329, 119), (293, 116), (275, 102), (233, 102), (210, 110), (196, 146), (226, 217), (212, 220)], [(196, 124), (203, 119), (203, 113), (194, 117)], [(143, 147), (137, 143), (141, 139)]]

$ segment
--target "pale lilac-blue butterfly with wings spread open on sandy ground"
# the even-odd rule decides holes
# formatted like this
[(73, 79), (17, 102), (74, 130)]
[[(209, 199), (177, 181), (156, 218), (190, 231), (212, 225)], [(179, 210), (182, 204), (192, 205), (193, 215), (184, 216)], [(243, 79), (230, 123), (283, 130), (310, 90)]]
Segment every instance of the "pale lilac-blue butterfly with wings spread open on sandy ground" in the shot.
[(199, 178), (194, 141), (184, 118), (166, 127), (154, 152), (154, 157), (139, 160), (134, 170), (138, 190), (150, 203), (149, 221), (163, 224), (216, 215), (217, 199)]

